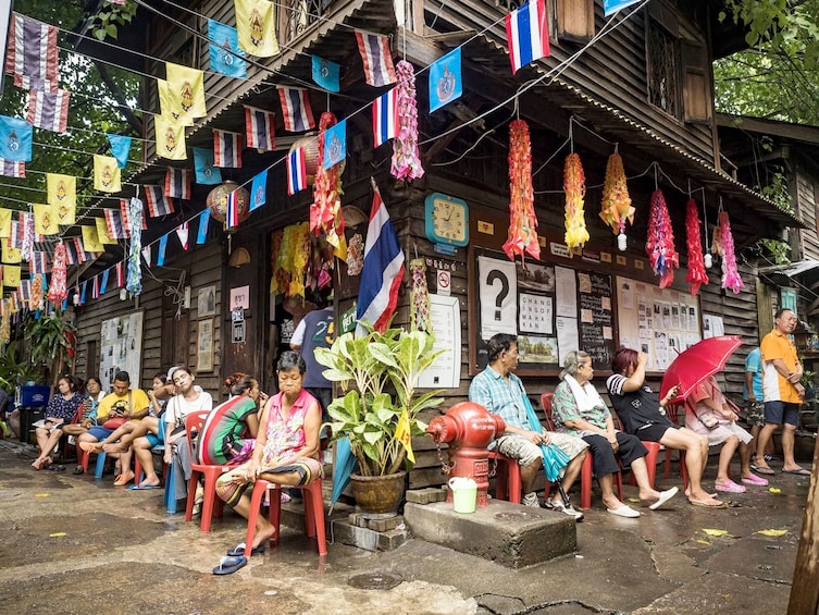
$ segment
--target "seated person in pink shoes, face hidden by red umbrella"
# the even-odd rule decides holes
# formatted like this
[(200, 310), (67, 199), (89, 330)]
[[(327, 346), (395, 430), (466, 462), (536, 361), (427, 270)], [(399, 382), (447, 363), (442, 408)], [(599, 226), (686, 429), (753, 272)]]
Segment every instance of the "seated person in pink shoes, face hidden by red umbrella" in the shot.
[(720, 391), (717, 379), (712, 376), (694, 389), (685, 398), (685, 427), (700, 433), (708, 439), (708, 444), (722, 444), (717, 466), (717, 480), (713, 484), (717, 491), (728, 493), (744, 493), (745, 487), (737, 484), (729, 477), (731, 457), (740, 447), (740, 467), (742, 482), (765, 487), (768, 481), (750, 471), (749, 445), (754, 436), (736, 425), (737, 416), (728, 406), (725, 397)]

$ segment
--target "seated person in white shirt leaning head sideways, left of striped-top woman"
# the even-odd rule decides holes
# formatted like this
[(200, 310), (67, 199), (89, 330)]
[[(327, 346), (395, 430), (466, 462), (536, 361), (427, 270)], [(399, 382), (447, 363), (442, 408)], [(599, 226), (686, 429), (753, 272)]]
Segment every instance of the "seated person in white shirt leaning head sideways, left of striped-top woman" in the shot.
[[(210, 411), (213, 408), (213, 399), (210, 393), (194, 386), (195, 380), (196, 377), (186, 367), (177, 367), (174, 370), (173, 383), (176, 388), (176, 394), (169, 399), (165, 406), (164, 420), (159, 423), (164, 427), (162, 435), (165, 443), (164, 462), (170, 464), (174, 457), (177, 460), (174, 464), (176, 500), (184, 500), (187, 496), (187, 481), (190, 480), (190, 452), (185, 433), (185, 417), (190, 413)], [(160, 429), (160, 431), (162, 430)], [(147, 435), (141, 435), (133, 441), (134, 454), (145, 470), (145, 479), (138, 485), (134, 485), (134, 489), (159, 487), (159, 477), (153, 469), (153, 459), (151, 458), (151, 448), (156, 445), (157, 441)]]

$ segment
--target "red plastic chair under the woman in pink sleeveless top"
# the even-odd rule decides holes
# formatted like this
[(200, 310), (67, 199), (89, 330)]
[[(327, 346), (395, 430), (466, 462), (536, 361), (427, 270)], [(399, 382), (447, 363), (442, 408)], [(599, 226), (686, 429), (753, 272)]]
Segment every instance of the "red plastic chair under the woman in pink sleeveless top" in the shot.
[[(298, 485), (295, 489), (301, 490), (305, 502), (305, 530), (309, 538), (315, 538), (319, 555), (327, 554), (326, 529), (324, 527), (324, 500), (322, 496), (321, 479), (317, 478), (309, 484)], [(253, 534), (256, 533), (256, 522), (259, 519), (259, 509), (261, 508), (264, 493), (271, 490), (270, 494), (270, 522), (276, 528), (274, 543), (278, 543), (280, 521), (282, 518), (282, 485), (275, 482), (257, 479), (253, 483), (253, 493), (250, 496), (250, 514), (247, 517), (247, 536), (245, 537), (245, 557), (250, 557)]]

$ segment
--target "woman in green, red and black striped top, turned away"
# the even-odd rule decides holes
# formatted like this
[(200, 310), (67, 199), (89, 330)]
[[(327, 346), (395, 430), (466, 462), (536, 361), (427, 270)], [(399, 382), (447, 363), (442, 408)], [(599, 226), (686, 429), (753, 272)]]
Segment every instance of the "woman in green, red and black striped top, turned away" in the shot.
[(259, 404), (268, 396), (252, 376), (235, 373), (225, 380), (233, 395), (208, 415), (197, 443), (200, 464), (238, 465), (250, 458), (259, 430)]

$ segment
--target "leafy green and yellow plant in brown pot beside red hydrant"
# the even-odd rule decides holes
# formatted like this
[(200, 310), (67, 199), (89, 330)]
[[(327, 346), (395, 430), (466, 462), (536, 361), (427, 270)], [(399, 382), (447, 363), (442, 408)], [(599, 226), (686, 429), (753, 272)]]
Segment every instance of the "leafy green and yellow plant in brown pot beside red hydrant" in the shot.
[(365, 514), (395, 514), (413, 465), (399, 438), (401, 416), (406, 413), (410, 435), (424, 434), (419, 414), (444, 399), (436, 396), (440, 391), (415, 396), (415, 385), (442, 350), (433, 350), (434, 336), (422, 331), (380, 333), (364, 327), (364, 336), (345, 333), (332, 347), (317, 348), (315, 360), (328, 368), (324, 377), (346, 391), (327, 413), (333, 440), (347, 438), (357, 462), (350, 477), (356, 502)]

